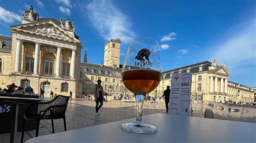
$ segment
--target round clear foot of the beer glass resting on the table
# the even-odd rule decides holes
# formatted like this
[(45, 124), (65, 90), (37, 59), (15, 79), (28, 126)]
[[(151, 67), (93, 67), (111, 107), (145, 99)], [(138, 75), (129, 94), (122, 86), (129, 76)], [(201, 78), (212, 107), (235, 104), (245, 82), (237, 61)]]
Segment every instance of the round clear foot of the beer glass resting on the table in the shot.
[(156, 133), (157, 127), (144, 124), (143, 122), (139, 123), (134, 121), (133, 123), (124, 123), (121, 128), (125, 131), (134, 132), (134, 133)]

